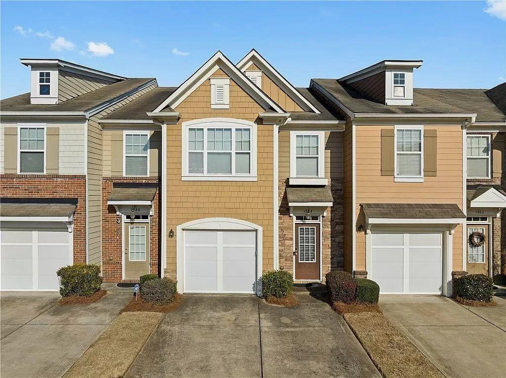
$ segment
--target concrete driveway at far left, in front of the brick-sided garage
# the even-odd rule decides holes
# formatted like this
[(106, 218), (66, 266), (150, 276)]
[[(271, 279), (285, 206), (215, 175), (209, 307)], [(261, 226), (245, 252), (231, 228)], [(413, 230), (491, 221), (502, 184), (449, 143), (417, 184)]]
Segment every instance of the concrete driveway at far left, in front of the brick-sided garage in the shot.
[(131, 296), (108, 292), (99, 302), (66, 306), (59, 299), (58, 293), (0, 294), (2, 378), (62, 376)]

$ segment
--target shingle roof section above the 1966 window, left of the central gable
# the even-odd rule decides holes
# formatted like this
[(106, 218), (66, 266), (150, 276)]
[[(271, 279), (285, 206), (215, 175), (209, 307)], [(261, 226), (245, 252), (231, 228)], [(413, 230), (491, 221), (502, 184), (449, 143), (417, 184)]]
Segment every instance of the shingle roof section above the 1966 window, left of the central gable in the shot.
[[(121, 108), (109, 113), (102, 119), (151, 119), (146, 112), (152, 112), (160, 105), (177, 87), (159, 86), (153, 88), (134, 101), (123, 105)], [(168, 111), (168, 110), (165, 110)], [(172, 111), (172, 109), (170, 110)]]

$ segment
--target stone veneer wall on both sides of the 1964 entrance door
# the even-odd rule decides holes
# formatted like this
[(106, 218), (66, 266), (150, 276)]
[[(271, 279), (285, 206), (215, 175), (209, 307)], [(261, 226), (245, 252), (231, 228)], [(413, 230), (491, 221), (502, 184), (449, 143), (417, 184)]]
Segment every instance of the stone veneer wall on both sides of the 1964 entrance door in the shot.
[[(279, 179), (279, 268), (293, 272), (293, 219), (286, 198), (288, 178)], [(322, 219), (322, 277), (330, 270), (344, 269), (343, 180), (329, 179), (334, 203)]]

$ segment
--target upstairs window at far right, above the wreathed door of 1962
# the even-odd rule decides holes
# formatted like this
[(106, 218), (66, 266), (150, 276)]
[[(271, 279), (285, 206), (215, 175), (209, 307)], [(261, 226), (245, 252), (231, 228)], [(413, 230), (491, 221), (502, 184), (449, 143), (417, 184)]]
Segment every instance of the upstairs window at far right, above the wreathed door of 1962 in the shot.
[(490, 135), (467, 137), (468, 178), (490, 178)]

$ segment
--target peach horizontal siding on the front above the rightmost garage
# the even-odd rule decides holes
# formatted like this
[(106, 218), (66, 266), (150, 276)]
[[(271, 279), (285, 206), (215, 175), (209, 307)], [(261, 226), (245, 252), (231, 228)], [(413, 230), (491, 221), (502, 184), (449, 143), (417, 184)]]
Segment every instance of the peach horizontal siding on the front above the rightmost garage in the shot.
[[(361, 203), (443, 203), (462, 208), (462, 129), (460, 126), (426, 126), (437, 130), (437, 176), (424, 182), (394, 182), (381, 175), (381, 129), (393, 126), (357, 126), (356, 212), (364, 224)], [(365, 270), (365, 233), (356, 233), (357, 269)], [(453, 234), (453, 269), (462, 269), (462, 229)]]

